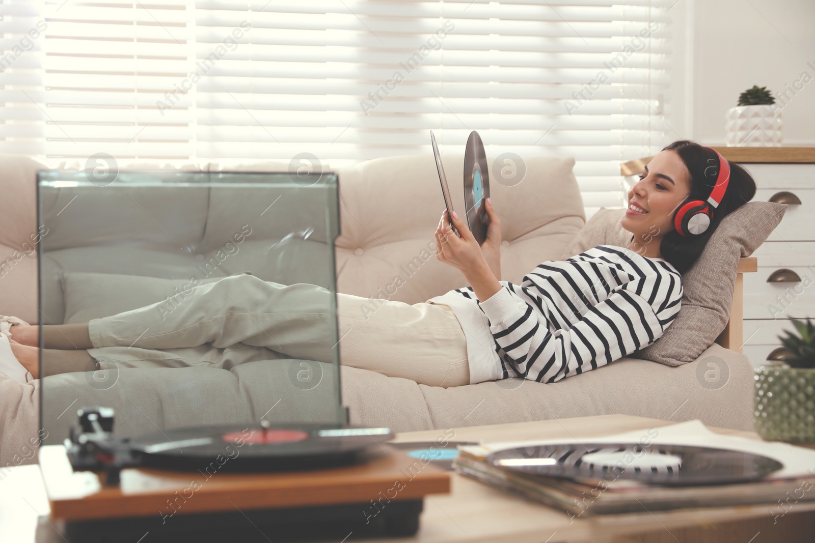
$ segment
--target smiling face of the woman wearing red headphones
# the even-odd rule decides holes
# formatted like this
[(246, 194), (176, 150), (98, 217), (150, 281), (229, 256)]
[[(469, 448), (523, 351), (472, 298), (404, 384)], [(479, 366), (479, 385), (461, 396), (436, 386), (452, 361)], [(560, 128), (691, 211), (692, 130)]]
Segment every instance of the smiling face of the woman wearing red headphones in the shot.
[[(676, 151), (660, 151), (628, 190), (628, 210), (621, 225), (635, 240), (650, 243), (675, 230), (673, 214), (690, 194), (690, 173)], [(645, 210), (632, 211), (631, 205)]]

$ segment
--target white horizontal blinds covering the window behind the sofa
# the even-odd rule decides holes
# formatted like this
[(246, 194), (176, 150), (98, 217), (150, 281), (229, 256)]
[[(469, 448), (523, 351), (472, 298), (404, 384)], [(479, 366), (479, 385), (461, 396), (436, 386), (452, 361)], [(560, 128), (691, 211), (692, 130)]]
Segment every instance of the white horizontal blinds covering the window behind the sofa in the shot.
[[(84, 159), (574, 155), (587, 215), (666, 119), (675, 0), (4, 2), (0, 147)], [(0, 62), (2, 66), (2, 62)]]

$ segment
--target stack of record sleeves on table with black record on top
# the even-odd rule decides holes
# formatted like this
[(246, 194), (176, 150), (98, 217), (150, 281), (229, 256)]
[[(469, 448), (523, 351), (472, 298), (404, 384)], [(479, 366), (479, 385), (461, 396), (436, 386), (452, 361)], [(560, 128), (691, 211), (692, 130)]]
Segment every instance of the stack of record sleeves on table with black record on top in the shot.
[[(800, 451), (805, 462), (815, 458), (815, 451)], [(635, 441), (465, 446), (454, 466), (575, 516), (643, 513), (643, 504), (649, 511), (772, 505), (809, 478), (804, 471), (782, 470), (775, 458), (743, 450)], [(815, 500), (815, 493), (800, 499)]]

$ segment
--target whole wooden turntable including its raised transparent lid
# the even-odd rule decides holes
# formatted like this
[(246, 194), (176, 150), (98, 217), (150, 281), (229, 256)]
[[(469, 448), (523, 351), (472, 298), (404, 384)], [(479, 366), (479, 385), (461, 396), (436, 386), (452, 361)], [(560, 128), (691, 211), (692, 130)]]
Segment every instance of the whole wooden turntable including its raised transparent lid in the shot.
[[(449, 492), (446, 471), (390, 447), (389, 428), (350, 425), (343, 407), (338, 195), (322, 171), (38, 174), (43, 322), (151, 307), (165, 322), (222, 278), (297, 285), (293, 296), (311, 286), (295, 301), (327, 316), (294, 334), (258, 328), (265, 346), (144, 348), (149, 333), (134, 330), (130, 347), (89, 351), (95, 371), (41, 349), (39, 462), (66, 541), (407, 536), (423, 497)], [(81, 258), (63, 257), (66, 240)], [(227, 296), (201, 311), (218, 304), (258, 326)]]

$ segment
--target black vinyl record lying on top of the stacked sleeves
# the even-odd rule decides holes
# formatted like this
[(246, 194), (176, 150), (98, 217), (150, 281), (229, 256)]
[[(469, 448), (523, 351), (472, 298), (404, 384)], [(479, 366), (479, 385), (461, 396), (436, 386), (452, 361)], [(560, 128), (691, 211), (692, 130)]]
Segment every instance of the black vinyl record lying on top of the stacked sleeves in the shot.
[(546, 444), (492, 453), (493, 466), (566, 479), (636, 480), (670, 486), (759, 480), (780, 462), (740, 451), (638, 443)]

